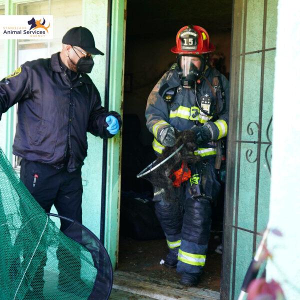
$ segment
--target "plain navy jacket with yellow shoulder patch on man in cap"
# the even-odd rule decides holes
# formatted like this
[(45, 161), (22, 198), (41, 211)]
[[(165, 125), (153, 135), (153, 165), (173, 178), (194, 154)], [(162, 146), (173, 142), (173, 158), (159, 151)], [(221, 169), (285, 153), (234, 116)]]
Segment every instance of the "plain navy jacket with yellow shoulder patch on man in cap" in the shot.
[(67, 169), (73, 171), (87, 154), (86, 132), (112, 137), (105, 118), (114, 115), (120, 125), (121, 119), (105, 112), (88, 75), (69, 78), (58, 55), (27, 61), (0, 81), (0, 118), (18, 103), (13, 154), (59, 168), (68, 151)]

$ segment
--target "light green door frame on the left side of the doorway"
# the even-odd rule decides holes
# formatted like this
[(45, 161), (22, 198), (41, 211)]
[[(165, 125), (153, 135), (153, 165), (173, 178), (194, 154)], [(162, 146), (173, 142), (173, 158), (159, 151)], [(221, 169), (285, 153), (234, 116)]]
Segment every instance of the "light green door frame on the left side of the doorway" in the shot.
[[(108, 1), (110, 2), (110, 1)], [(109, 6), (108, 6), (109, 11)], [(114, 110), (122, 116), (124, 53), (126, 28), (126, 0), (111, 0), (111, 21), (109, 41), (109, 74), (107, 74), (108, 110)], [(108, 15), (108, 18), (110, 16)], [(107, 62), (106, 62), (107, 63)], [(105, 92), (106, 93), (106, 92)], [(107, 140), (103, 159), (106, 160), (102, 203), (105, 203), (104, 245), (115, 268), (118, 259), (119, 217), (120, 217), (120, 180), (121, 180), (121, 140), (122, 132)], [(103, 148), (104, 150), (104, 148)], [(106, 153), (106, 154), (104, 154)], [(103, 186), (103, 185), (102, 185)], [(105, 199), (105, 200), (104, 200)]]

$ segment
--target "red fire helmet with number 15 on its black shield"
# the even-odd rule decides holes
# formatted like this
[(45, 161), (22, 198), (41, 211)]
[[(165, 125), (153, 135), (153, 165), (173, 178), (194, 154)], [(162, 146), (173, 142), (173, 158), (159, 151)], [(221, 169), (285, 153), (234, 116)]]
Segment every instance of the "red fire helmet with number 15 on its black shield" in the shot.
[(207, 31), (197, 25), (182, 27), (176, 35), (176, 45), (171, 48), (177, 54), (202, 54), (215, 50), (215, 46), (209, 42)]

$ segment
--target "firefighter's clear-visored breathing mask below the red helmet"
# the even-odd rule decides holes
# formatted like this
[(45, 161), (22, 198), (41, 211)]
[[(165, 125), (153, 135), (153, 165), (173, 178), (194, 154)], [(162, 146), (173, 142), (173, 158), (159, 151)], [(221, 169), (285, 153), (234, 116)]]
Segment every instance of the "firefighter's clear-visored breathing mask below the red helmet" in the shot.
[(180, 68), (179, 76), (183, 87), (194, 87), (195, 82), (202, 76), (205, 66), (203, 55), (179, 55), (178, 66)]

